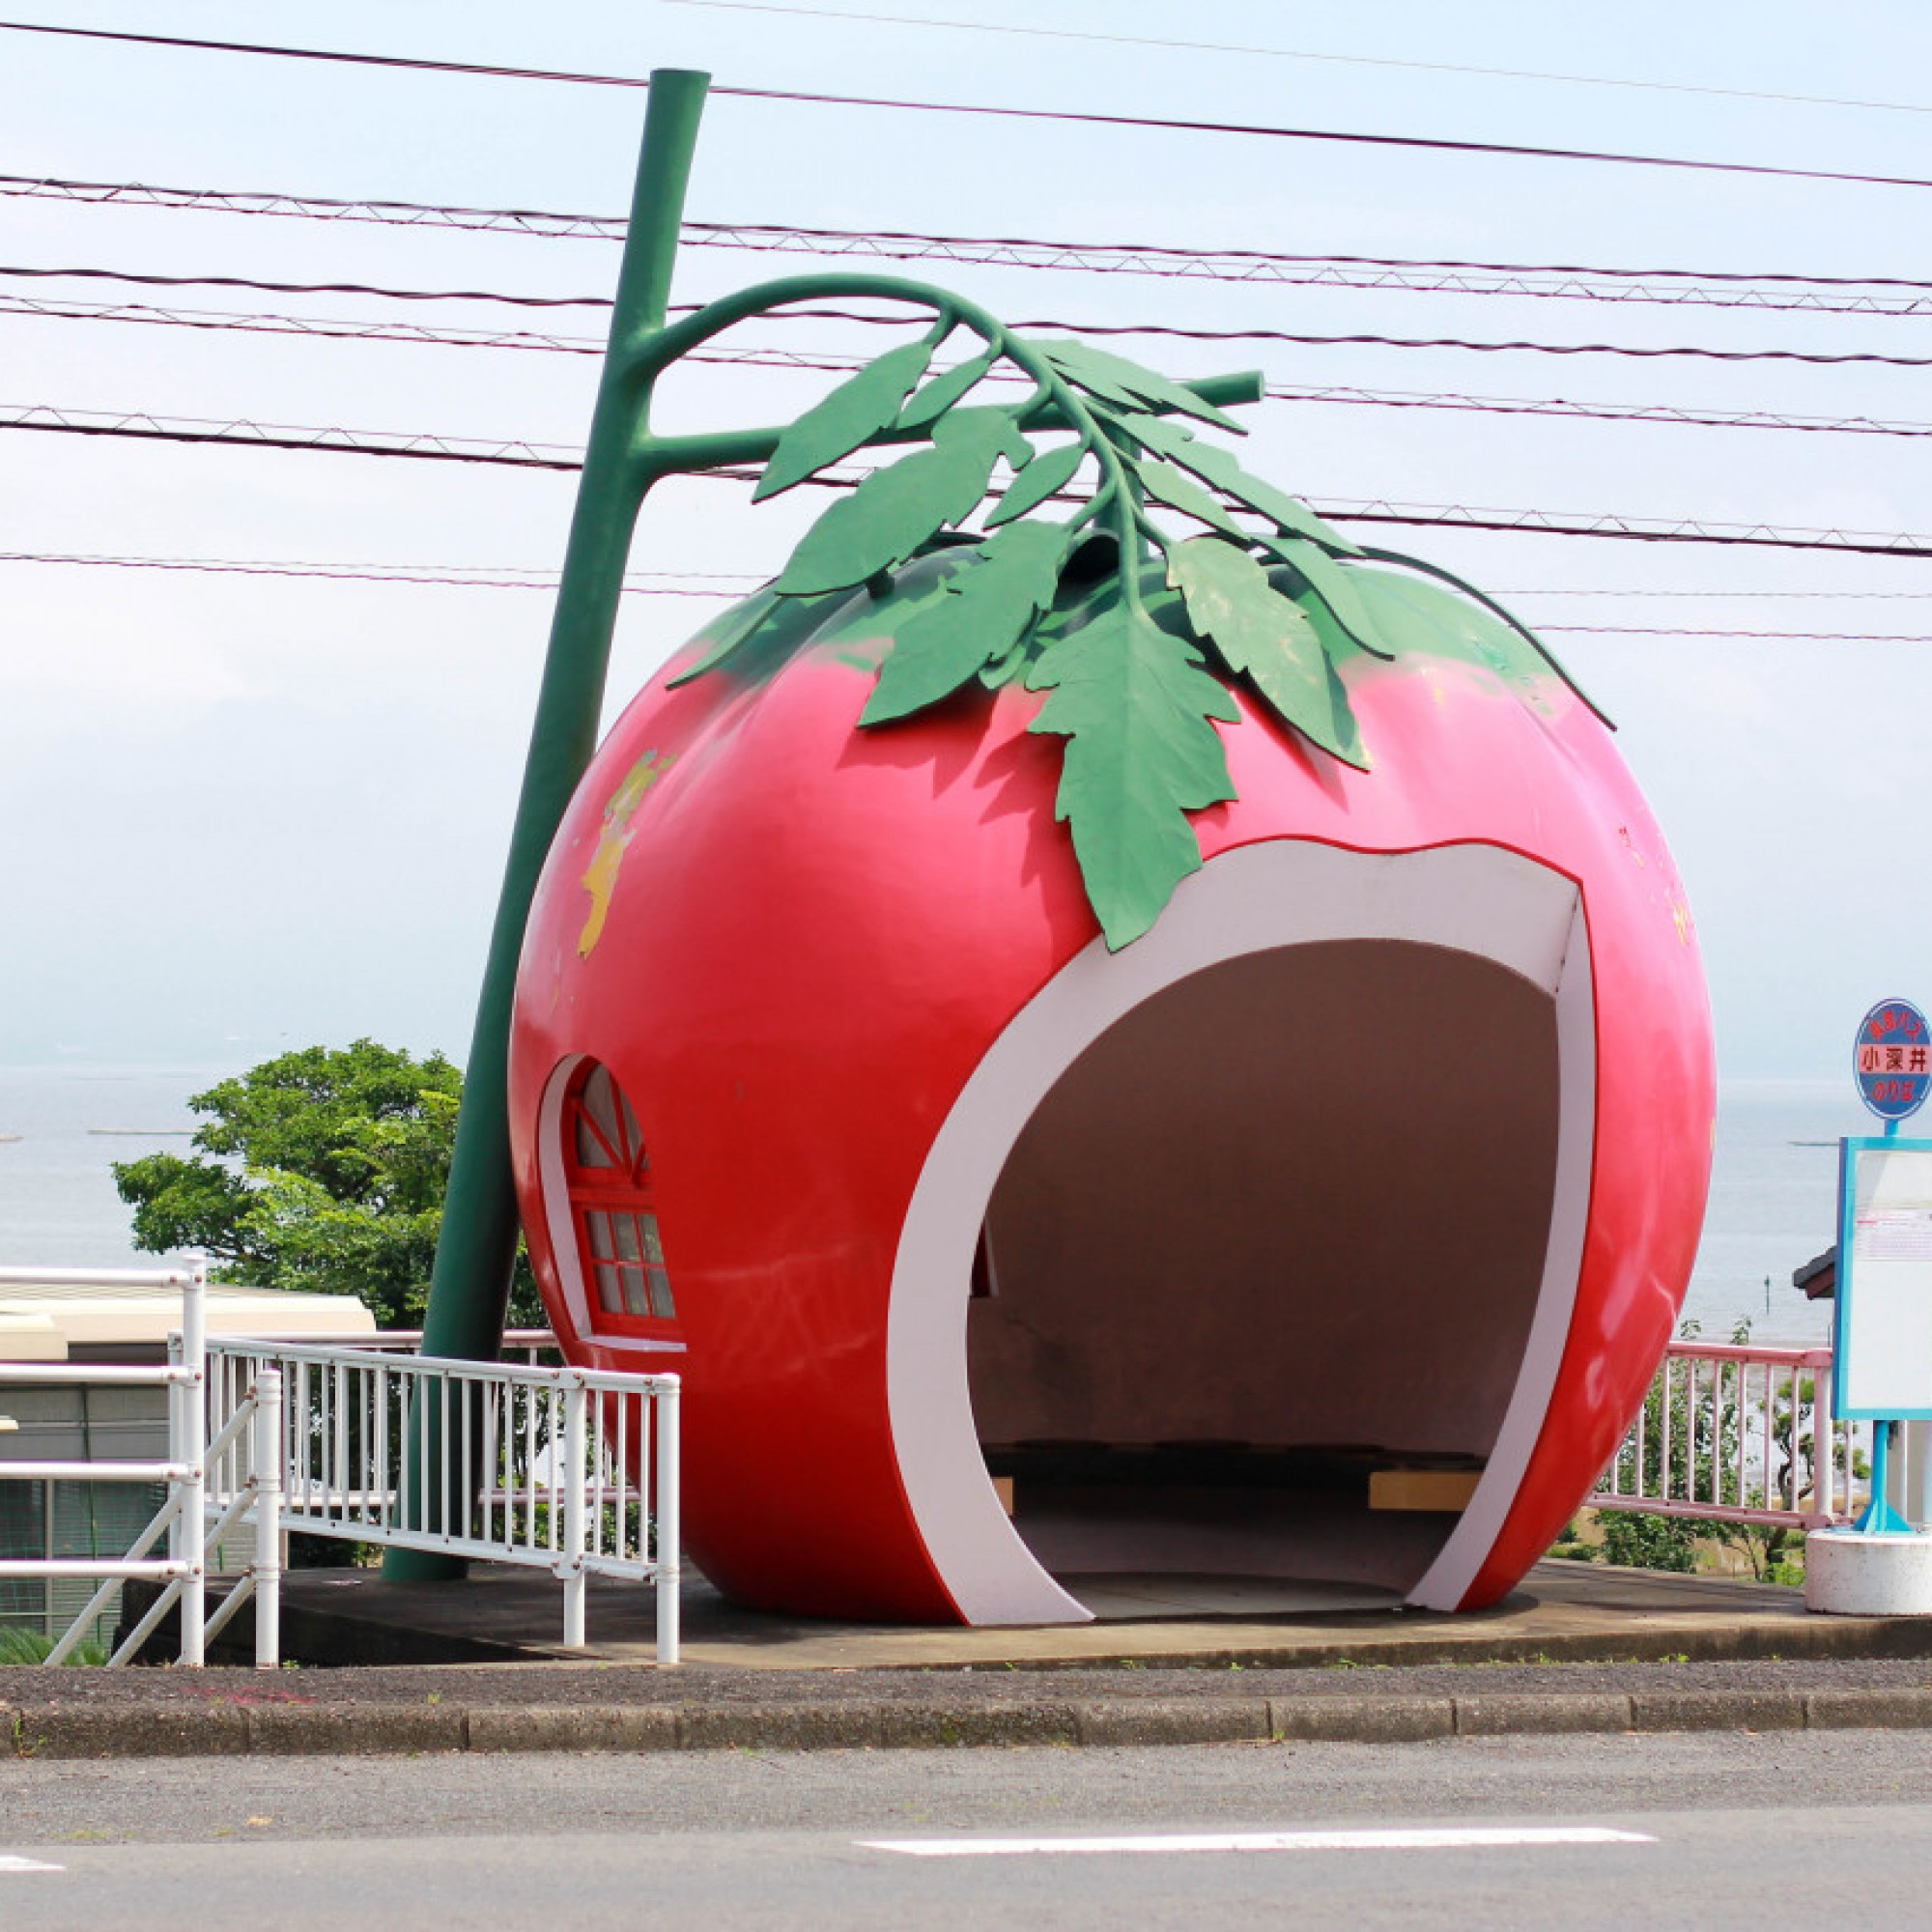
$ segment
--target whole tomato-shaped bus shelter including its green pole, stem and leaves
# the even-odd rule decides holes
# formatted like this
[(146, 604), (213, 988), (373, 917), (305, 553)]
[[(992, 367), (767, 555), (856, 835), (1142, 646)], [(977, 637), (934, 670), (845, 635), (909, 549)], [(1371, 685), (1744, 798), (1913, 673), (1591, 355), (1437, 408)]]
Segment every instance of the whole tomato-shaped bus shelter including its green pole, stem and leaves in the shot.
[[(1190, 427), (1254, 375), (871, 274), (670, 319), (703, 89), (651, 81), (425, 1352), (493, 1352), (520, 1213), (576, 1360), (682, 1374), (690, 1548), (752, 1604), (1493, 1602), (1636, 1412), (1708, 1180), (1604, 721)], [(653, 427), (833, 298), (923, 334), (790, 425)], [(649, 489), (887, 446), (593, 750)]]

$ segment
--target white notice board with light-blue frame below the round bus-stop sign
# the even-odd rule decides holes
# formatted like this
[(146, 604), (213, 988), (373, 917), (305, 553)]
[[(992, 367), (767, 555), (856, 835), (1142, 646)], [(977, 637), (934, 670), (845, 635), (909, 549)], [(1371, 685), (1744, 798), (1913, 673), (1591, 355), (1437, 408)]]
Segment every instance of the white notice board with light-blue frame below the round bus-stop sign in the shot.
[(1932, 1418), (1932, 1140), (1845, 1140), (1832, 1406)]

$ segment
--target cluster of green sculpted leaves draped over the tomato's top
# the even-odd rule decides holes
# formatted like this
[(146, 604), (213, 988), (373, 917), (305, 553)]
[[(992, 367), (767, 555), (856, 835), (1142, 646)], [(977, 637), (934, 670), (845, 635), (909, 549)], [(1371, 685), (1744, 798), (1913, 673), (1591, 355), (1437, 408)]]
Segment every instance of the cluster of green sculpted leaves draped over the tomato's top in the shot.
[[(1111, 350), (1018, 336), (952, 296), (923, 299), (935, 309), (927, 334), (887, 350), (779, 433), (755, 497), (823, 479), (827, 466), (871, 444), (922, 446), (835, 502), (771, 589), (678, 682), (726, 663), (753, 636), (769, 641), (777, 603), (881, 589), (881, 578), (935, 543), (958, 543), (978, 514), (978, 545), (958, 553), (939, 595), (904, 622), (858, 723), (891, 728), (1014, 680), (1045, 692), (1030, 728), (1065, 740), (1057, 815), (1107, 945), (1119, 949), (1200, 867), (1188, 813), (1235, 796), (1221, 744), (1221, 728), (1240, 721), (1235, 692), (1298, 732), (1310, 757), (1370, 767), (1339, 667), (1360, 651), (1393, 657), (1397, 641), (1354, 568), (1428, 566), (1360, 549), (1204, 440), (1194, 425), (1236, 435), (1240, 425), (1196, 388)], [(958, 328), (978, 348), (933, 375), (933, 355)], [(989, 408), (976, 400), (980, 384), (1003, 365), (1034, 390)], [(989, 498), (1001, 462), (1010, 479)], [(1043, 514), (1055, 502), (1070, 502), (1070, 514)], [(1173, 529), (1171, 516), (1194, 527)], [(1111, 543), (1111, 597), (1092, 564), (1066, 582), (1090, 539)], [(1155, 562), (1165, 570), (1150, 570)], [(1150, 612), (1161, 591), (1177, 595)], [(1561, 674), (1530, 632), (1497, 614)], [(798, 630), (802, 638), (808, 626)]]

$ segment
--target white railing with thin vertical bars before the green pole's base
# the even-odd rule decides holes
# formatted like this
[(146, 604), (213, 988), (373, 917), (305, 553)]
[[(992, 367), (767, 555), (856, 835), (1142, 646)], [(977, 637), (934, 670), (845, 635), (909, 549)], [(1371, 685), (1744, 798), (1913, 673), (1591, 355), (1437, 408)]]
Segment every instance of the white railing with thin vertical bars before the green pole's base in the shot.
[(284, 1528), (547, 1569), (572, 1646), (589, 1577), (653, 1580), (657, 1658), (678, 1660), (676, 1376), (220, 1339), (216, 1424), (270, 1366)]

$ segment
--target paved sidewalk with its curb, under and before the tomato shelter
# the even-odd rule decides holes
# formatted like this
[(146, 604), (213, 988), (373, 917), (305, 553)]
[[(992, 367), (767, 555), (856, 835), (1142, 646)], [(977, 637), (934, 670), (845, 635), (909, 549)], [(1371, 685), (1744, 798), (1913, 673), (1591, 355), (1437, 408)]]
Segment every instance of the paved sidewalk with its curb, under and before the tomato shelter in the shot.
[(0, 1669), (0, 1739), (19, 1758), (75, 1758), (1932, 1729), (1932, 1621), (1808, 1617), (1789, 1590), (1590, 1565), (1540, 1565), (1474, 1617), (1260, 1615), (1252, 1588), (1213, 1586), (1188, 1617), (1057, 1631), (753, 1617), (694, 1588), (676, 1669), (643, 1662), (647, 1592), (597, 1592), (593, 1650), (562, 1654), (545, 1650), (558, 1592), (527, 1577), (294, 1582), (296, 1629), (332, 1617), (421, 1638), (440, 1623), (446, 1642), (462, 1623), (504, 1660)]

